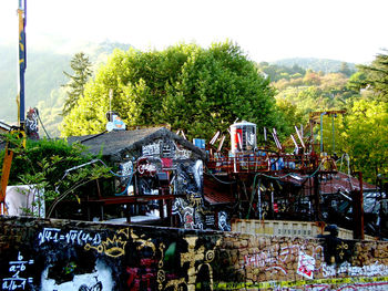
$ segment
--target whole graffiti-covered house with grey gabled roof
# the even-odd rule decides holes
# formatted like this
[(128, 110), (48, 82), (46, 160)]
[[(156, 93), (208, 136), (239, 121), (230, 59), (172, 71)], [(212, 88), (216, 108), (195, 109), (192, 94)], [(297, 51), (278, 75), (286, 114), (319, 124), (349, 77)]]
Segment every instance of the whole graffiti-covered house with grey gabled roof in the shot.
[(96, 195), (83, 195), (81, 204), (89, 220), (96, 212), (99, 219), (106, 219), (110, 207), (120, 208), (132, 222), (156, 214), (163, 225), (203, 229), (206, 221), (214, 220), (206, 217), (203, 202), (206, 153), (184, 137), (153, 127), (72, 136), (68, 142), (100, 154), (119, 174), (114, 187), (98, 185)]

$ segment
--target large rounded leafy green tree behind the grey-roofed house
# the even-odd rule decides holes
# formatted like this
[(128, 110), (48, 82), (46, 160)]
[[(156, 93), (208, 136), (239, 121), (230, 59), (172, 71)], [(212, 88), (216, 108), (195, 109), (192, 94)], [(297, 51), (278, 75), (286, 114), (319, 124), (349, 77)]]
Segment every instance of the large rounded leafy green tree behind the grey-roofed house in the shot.
[(115, 50), (64, 117), (62, 135), (104, 131), (110, 108), (130, 126), (170, 124), (191, 137), (208, 138), (237, 117), (276, 126), (274, 94), (269, 81), (231, 42), (208, 49), (178, 44), (164, 51)]

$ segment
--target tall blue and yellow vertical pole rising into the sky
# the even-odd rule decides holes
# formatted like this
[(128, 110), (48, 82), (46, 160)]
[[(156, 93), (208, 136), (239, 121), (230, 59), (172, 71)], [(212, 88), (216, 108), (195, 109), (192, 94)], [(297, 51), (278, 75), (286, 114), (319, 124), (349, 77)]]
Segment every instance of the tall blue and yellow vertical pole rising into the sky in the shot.
[(18, 119), (19, 126), (24, 127), (24, 72), (27, 67), (25, 53), (25, 4), (27, 0), (19, 0), (18, 15), (19, 15), (19, 94), (18, 94)]

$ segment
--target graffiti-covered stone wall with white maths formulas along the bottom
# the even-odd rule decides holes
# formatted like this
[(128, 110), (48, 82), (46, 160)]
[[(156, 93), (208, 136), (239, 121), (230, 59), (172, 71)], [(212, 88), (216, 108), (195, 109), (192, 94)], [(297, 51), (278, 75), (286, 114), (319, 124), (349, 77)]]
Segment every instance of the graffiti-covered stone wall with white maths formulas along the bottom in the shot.
[(0, 217), (1, 290), (388, 290), (388, 242)]

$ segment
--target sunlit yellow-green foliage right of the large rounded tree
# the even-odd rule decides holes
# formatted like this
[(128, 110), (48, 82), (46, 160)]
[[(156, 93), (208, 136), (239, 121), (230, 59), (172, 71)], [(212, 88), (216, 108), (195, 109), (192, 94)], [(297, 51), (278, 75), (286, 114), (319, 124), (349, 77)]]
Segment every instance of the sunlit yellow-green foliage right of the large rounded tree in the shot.
[(358, 66), (350, 77), (353, 70), (343, 63), (337, 73), (307, 70), (303, 76), (273, 83), (285, 123), (296, 122), (289, 116), (298, 112), (306, 121), (313, 111), (347, 110), (345, 116), (334, 118), (334, 136), (333, 116), (323, 116), (325, 152), (349, 154), (353, 170), (363, 172), (369, 183), (376, 181), (377, 174), (388, 173), (387, 64), (387, 55), (379, 54), (371, 65)]

